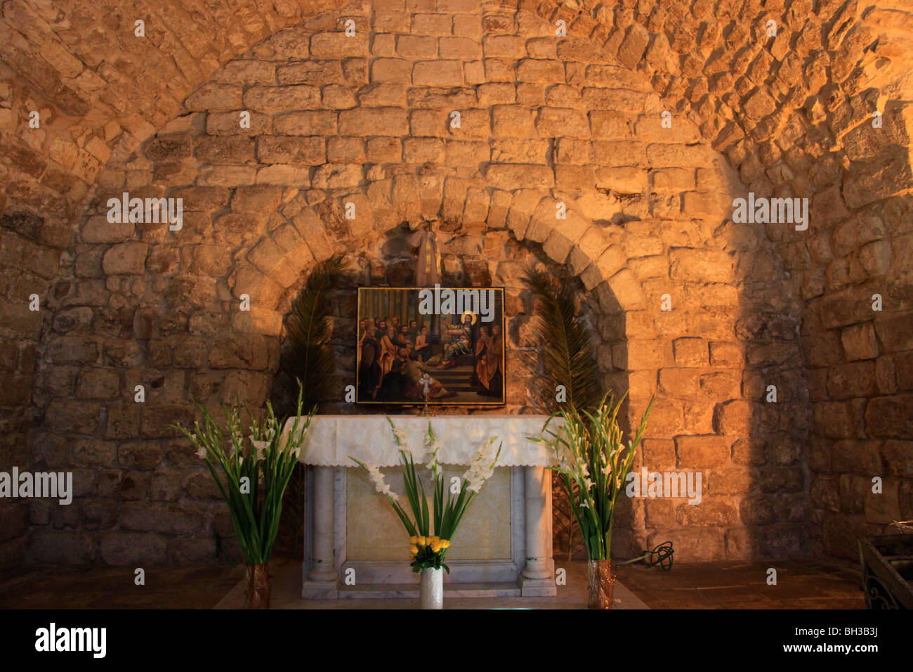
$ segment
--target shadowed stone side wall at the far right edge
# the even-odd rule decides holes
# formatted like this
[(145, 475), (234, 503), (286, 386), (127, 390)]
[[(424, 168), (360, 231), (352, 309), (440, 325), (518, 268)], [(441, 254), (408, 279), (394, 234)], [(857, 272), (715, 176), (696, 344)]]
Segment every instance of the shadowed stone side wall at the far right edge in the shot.
[(813, 539), (847, 558), (856, 537), (913, 517), (911, 205), (898, 197), (835, 212), (804, 261), (815, 264), (803, 289)]

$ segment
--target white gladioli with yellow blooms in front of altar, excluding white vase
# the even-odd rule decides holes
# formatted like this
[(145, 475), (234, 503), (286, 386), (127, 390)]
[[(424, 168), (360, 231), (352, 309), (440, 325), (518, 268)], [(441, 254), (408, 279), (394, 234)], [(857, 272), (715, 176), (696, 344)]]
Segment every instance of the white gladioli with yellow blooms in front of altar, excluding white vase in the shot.
[[(501, 444), (497, 450), (494, 447), (497, 437), (482, 443), (473, 455), (466, 473), (463, 474), (462, 485), (458, 494), (450, 492), (444, 485), (444, 475), (437, 463), (437, 453), (441, 443), (436, 439), (435, 432), (428, 422), (428, 432), (421, 449), (410, 450), (404, 432), (397, 429), (393, 421), (387, 418), (394, 433), (396, 445), (399, 446), (400, 460), (403, 469), (405, 497), (408, 500), (409, 511), (400, 503), (398, 496), (384, 481), (380, 468), (373, 464), (364, 464), (353, 457), (353, 462), (368, 472), (374, 489), (381, 493), (394, 507), (394, 512), (403, 522), (403, 527), (409, 534), (409, 552), (412, 558), (412, 571), (419, 572), (425, 569), (439, 570), (442, 567), (450, 572), (445, 563), (450, 540), (456, 533), (456, 528), (463, 519), (469, 503), (478, 494), (482, 485), (494, 474), (495, 464), (501, 453)], [(425, 486), (415, 473), (415, 461), (421, 461), (427, 456), (425, 468), (428, 469), (435, 482), (432, 505), (429, 511)], [(445, 498), (446, 492), (446, 498)], [(411, 512), (411, 516), (410, 516)]]

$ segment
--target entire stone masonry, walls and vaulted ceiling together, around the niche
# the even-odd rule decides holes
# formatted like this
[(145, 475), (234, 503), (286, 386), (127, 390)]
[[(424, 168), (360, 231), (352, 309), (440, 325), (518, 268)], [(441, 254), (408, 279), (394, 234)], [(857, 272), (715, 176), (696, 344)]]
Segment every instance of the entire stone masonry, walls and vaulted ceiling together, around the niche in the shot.
[[(174, 7), (145, 15), (145, 41), (131, 10), (4, 5), (0, 405), (5, 427), (34, 427), (27, 455), (16, 433), (3, 454), (79, 484), (71, 507), (29, 504), (32, 560), (204, 560), (230, 526), (168, 424), (192, 420), (191, 398), (265, 399), (313, 260), (426, 220), (492, 259), (533, 243), (611, 315), (605, 383), (630, 387), (632, 416), (656, 394), (640, 459), (701, 469), (707, 488), (699, 507), (635, 501), (624, 547), (851, 555), (853, 533), (913, 517), (913, 177), (893, 102), (909, 99), (908, 9), (379, 0), (317, 14), (331, 5)], [(124, 190), (183, 197), (184, 229), (110, 225)], [(810, 197), (809, 230), (734, 224), (746, 191)], [(23, 308), (32, 287), (40, 317)], [(881, 496), (863, 487), (876, 471)], [(17, 559), (24, 508), (6, 510), (0, 557)]]

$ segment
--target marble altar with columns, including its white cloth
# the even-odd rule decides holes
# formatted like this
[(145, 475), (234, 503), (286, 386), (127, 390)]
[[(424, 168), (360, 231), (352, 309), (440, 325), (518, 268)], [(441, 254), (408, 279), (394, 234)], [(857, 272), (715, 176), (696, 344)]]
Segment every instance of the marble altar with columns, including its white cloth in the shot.
[[(550, 450), (539, 436), (543, 415), (319, 415), (311, 421), (300, 461), (305, 485), (305, 554), (301, 595), (312, 599), (415, 597), (402, 523), (352, 460), (382, 467), (403, 495), (399, 446), (421, 446), (428, 423), (442, 447), (445, 483), (459, 477), (481, 443), (501, 443), (494, 475), (467, 509), (447, 553), (445, 591), (463, 597), (555, 594), (551, 558)], [(289, 420), (286, 431), (289, 431)], [(416, 464), (416, 469), (418, 469)], [(429, 483), (429, 472), (420, 476)]]

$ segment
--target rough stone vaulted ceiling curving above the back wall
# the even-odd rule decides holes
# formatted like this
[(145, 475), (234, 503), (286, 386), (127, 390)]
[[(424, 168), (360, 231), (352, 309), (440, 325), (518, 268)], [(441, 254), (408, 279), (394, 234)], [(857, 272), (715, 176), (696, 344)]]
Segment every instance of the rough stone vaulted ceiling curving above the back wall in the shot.
[[(459, 11), (466, 3), (475, 5), (469, 0), (389, 5), (394, 16), (404, 9)], [(565, 20), (569, 34), (589, 36), (594, 48), (643, 72), (664, 101), (677, 112), (692, 112), (704, 136), (729, 152), (747, 185), (789, 185), (807, 193), (840, 184), (846, 171), (851, 206), (909, 187), (898, 149), (907, 136), (897, 103), (908, 100), (911, 82), (903, 56), (913, 39), (913, 19), (903, 5), (519, 3), (550, 21)], [(341, 14), (335, 20), (321, 17), (324, 24), (339, 23), (350, 7), (352, 16), (359, 15), (358, 4), (331, 0), (236, 8), (203, 2), (142, 8), (5, 3), (0, 59), (8, 68), (3, 96), (8, 205), (40, 207), (45, 217), (71, 219), (110, 156), (131, 151), (172, 119), (187, 94), (215, 69), (263, 37), (330, 7)], [(137, 19), (145, 22), (144, 39), (134, 36)], [(374, 23), (378, 20), (383, 22)], [(770, 20), (777, 22), (777, 37), (767, 37)], [(324, 27), (335, 27), (331, 24)], [(44, 132), (16, 133), (32, 110), (42, 112)], [(880, 144), (847, 136), (876, 110), (886, 113), (890, 131)], [(890, 151), (875, 158), (892, 147), (897, 160)], [(865, 163), (887, 158), (892, 160), (876, 171)], [(858, 170), (851, 169), (852, 162), (860, 162)]]

